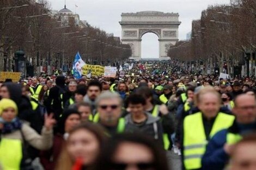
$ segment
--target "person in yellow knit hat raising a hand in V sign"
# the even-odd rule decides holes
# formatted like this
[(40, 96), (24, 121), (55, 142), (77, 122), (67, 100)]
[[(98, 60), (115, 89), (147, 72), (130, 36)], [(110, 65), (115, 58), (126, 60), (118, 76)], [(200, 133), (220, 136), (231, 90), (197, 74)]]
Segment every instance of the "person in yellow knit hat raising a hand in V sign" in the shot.
[[(45, 114), (41, 136), (26, 123), (17, 118), (17, 105), (11, 99), (0, 101), (0, 162), (4, 169), (28, 169), (32, 160), (26, 154), (26, 142), (31, 146), (46, 150), (52, 146), (53, 115)], [(25, 152), (22, 152), (25, 150)]]

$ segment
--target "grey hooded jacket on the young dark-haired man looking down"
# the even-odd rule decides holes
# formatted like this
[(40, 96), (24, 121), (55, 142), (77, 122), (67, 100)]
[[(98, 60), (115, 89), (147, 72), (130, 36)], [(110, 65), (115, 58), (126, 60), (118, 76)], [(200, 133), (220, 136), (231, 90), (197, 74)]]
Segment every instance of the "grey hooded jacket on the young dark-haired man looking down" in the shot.
[(136, 124), (133, 122), (131, 114), (127, 115), (125, 117), (125, 131), (129, 133), (143, 133), (163, 143), (163, 128), (160, 117), (153, 117), (148, 112), (145, 114), (147, 115), (147, 120), (142, 124)]

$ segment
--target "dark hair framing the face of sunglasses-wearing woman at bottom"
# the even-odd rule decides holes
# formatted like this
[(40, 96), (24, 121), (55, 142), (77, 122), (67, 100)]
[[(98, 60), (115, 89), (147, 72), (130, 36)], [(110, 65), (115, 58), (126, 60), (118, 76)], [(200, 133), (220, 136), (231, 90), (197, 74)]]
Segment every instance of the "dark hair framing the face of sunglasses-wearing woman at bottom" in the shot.
[(117, 148), (120, 146), (121, 143), (124, 142), (138, 143), (149, 148), (154, 156), (154, 168), (169, 170), (166, 152), (162, 149), (162, 147), (157, 145), (157, 143), (152, 138), (136, 133), (118, 134), (108, 140), (108, 142), (104, 145), (102, 149), (98, 161), (96, 162), (95, 170), (111, 170), (112, 161), (117, 151)]

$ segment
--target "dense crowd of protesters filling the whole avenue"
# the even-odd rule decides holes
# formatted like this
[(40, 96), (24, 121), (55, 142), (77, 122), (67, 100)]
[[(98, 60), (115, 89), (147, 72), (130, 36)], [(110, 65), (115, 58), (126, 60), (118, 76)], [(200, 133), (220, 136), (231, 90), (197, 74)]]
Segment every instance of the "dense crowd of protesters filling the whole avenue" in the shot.
[[(9, 82), (8, 82), (9, 81)], [(256, 85), (178, 61), (0, 83), (0, 169), (256, 169)]]

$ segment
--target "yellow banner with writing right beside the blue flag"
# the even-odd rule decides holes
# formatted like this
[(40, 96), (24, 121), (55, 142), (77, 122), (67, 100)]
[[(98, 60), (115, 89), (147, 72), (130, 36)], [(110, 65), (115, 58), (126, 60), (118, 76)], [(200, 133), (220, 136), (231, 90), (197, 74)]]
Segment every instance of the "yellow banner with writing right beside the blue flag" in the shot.
[(92, 76), (101, 76), (104, 74), (104, 67), (86, 64), (82, 67), (82, 74), (88, 75), (89, 73), (92, 73)]

